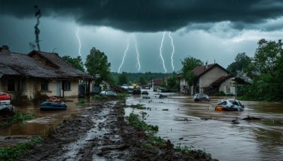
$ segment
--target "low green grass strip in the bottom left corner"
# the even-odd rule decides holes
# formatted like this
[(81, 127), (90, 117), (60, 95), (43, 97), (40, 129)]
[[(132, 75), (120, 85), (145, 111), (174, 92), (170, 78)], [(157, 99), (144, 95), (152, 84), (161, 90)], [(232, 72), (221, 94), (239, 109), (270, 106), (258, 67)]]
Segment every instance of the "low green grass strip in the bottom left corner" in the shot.
[(0, 160), (17, 160), (22, 157), (27, 150), (42, 142), (41, 137), (34, 138), (26, 143), (18, 143), (15, 146), (0, 148)]

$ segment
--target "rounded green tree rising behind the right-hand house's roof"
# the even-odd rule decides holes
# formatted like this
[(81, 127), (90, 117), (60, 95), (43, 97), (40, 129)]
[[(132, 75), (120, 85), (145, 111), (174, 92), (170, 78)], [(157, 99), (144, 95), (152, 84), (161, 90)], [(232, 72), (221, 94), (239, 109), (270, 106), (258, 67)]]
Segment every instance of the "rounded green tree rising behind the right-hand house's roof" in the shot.
[(246, 69), (248, 69), (250, 63), (251, 59), (246, 55), (245, 52), (238, 53), (235, 61), (227, 67), (227, 71), (233, 74), (233, 76), (236, 76), (237, 71), (245, 71)]

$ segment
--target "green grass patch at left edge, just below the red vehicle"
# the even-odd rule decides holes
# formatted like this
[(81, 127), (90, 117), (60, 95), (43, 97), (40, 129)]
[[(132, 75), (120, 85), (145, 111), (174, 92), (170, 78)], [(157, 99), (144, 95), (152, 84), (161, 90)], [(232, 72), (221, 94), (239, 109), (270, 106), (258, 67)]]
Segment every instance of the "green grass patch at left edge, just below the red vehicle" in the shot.
[(7, 116), (4, 120), (0, 123), (0, 129), (5, 128), (6, 126), (10, 126), (11, 124), (16, 124), (17, 122), (25, 123), (25, 121), (34, 119), (34, 114), (23, 113), (23, 112), (16, 112), (12, 116)]

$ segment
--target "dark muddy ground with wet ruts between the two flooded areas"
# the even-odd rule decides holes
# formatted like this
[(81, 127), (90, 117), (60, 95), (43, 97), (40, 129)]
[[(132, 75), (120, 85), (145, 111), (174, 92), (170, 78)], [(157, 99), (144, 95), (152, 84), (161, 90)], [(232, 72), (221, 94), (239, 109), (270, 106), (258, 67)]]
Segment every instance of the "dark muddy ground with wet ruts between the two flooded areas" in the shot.
[(127, 125), (125, 102), (100, 102), (85, 113), (64, 121), (44, 143), (21, 160), (212, 160), (192, 152), (177, 153), (168, 141), (165, 148), (146, 148), (146, 135)]

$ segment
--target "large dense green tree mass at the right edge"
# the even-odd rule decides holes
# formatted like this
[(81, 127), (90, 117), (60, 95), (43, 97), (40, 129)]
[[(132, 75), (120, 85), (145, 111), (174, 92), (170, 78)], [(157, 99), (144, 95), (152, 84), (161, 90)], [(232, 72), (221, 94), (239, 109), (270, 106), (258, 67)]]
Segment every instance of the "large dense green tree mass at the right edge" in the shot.
[(260, 40), (253, 58), (253, 71), (259, 76), (243, 88), (248, 99), (283, 101), (283, 44), (282, 41)]

